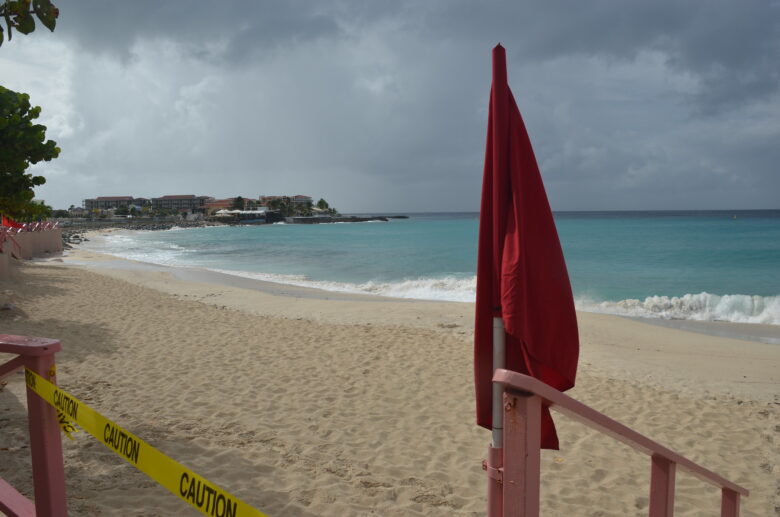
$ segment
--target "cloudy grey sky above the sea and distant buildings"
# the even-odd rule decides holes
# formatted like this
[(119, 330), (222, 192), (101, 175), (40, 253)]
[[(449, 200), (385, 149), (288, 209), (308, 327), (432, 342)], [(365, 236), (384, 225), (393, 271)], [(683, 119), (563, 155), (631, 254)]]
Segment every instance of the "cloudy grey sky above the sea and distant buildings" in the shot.
[(780, 2), (84, 0), (0, 48), (36, 193), (478, 210), (490, 51), (555, 210), (780, 208)]

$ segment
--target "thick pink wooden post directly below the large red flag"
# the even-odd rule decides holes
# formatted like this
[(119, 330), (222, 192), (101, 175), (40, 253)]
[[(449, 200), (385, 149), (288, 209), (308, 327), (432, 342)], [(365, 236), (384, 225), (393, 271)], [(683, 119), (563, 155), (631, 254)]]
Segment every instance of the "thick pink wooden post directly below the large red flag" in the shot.
[(539, 516), (542, 399), (504, 393), (504, 517)]

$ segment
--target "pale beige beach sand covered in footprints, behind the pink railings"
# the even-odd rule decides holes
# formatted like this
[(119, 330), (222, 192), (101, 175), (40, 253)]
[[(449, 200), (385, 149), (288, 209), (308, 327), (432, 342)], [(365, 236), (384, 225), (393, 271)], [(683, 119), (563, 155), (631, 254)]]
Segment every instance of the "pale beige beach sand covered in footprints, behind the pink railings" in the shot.
[[(472, 305), (73, 258), (0, 284), (0, 332), (61, 339), (59, 383), (163, 452), (269, 515), (484, 514)], [(572, 396), (747, 487), (742, 515), (780, 515), (780, 346), (578, 317)], [(23, 375), (6, 380), (0, 477), (30, 496)], [(649, 459), (556, 421), (542, 515), (646, 515)], [(72, 515), (196, 514), (85, 433), (64, 447)], [(684, 471), (676, 493), (676, 515), (719, 514)]]

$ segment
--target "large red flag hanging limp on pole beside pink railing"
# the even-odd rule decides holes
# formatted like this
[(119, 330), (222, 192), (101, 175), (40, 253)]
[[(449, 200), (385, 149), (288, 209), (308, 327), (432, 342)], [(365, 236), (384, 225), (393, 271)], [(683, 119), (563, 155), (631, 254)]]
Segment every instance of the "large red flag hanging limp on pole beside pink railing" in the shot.
[[(579, 339), (569, 275), (531, 141), (509, 90), (501, 45), (493, 49), (474, 329), (477, 424), (488, 429), (492, 320), (498, 316), (506, 329), (506, 369), (560, 391), (574, 386)], [(558, 448), (547, 408), (542, 447)]]

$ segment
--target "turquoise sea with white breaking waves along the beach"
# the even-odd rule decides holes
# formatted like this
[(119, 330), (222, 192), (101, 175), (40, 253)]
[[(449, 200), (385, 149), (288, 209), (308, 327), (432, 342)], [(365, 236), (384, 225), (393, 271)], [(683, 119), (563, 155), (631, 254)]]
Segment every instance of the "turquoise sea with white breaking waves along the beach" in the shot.
[[(478, 214), (409, 215), (136, 232), (91, 244), (326, 290), (474, 300)], [(780, 210), (561, 212), (555, 221), (580, 309), (780, 325)]]

